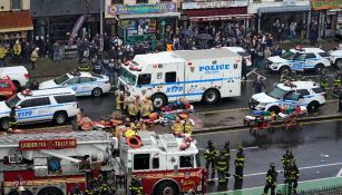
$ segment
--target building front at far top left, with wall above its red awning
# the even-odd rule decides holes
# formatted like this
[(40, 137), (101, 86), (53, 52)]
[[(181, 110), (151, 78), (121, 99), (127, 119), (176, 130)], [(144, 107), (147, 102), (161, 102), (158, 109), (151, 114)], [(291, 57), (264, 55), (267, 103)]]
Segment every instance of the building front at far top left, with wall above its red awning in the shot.
[(31, 39), (33, 25), (29, 0), (0, 1), (0, 41)]

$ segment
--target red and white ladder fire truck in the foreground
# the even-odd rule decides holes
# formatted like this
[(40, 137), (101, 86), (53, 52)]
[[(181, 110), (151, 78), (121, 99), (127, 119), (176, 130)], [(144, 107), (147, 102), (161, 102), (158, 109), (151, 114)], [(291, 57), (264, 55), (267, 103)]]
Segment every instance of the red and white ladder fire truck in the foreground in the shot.
[(204, 194), (206, 174), (195, 140), (139, 131), (130, 138), (94, 131), (1, 135), (2, 195), (68, 195), (85, 192), (99, 175), (117, 194), (140, 179), (143, 194)]

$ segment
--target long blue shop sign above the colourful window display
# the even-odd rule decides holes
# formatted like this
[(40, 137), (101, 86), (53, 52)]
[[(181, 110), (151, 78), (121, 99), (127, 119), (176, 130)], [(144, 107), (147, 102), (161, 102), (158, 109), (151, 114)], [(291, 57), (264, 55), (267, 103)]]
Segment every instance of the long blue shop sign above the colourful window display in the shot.
[(138, 13), (162, 13), (176, 12), (176, 3), (158, 3), (158, 4), (111, 4), (107, 8), (107, 13), (116, 14), (138, 14)]

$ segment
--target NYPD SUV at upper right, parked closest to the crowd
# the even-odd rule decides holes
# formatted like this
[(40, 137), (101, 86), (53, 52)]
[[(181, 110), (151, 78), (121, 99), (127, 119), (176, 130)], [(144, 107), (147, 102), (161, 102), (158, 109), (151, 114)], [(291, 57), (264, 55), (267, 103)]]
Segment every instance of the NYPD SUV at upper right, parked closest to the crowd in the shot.
[(266, 66), (272, 71), (283, 74), (285, 70), (306, 70), (314, 69), (315, 72), (330, 67), (329, 55), (320, 48), (301, 48), (290, 49), (281, 56), (267, 58)]

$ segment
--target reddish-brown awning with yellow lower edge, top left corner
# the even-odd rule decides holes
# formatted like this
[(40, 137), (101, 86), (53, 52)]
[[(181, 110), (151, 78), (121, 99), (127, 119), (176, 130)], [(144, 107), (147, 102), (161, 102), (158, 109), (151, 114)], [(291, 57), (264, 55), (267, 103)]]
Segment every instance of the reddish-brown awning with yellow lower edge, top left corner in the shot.
[(0, 32), (33, 30), (29, 11), (0, 11)]

